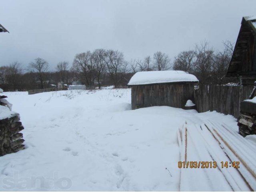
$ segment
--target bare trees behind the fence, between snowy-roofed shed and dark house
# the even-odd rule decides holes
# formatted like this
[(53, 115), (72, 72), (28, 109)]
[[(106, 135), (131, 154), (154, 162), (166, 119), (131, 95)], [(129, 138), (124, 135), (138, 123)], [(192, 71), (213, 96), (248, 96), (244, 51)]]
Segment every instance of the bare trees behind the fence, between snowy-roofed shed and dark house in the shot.
[(174, 58), (173, 69), (194, 74), (202, 84), (226, 84), (234, 79), (226, 78), (233, 54), (233, 44), (223, 42), (224, 50), (210, 47), (208, 42), (196, 44), (193, 50), (182, 51)]

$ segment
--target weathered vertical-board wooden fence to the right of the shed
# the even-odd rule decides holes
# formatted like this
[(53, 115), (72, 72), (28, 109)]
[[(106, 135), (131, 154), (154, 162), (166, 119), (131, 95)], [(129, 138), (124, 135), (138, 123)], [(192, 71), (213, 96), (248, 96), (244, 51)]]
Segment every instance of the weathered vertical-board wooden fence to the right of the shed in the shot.
[(249, 99), (254, 86), (202, 85), (194, 91), (198, 112), (217, 111), (239, 117), (240, 102)]

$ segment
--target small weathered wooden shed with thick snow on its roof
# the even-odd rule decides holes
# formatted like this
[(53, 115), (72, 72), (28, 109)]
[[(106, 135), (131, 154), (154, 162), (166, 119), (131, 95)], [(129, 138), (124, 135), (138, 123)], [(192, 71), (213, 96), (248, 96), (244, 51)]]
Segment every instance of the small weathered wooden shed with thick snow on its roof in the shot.
[(128, 86), (132, 88), (132, 109), (150, 106), (184, 108), (194, 101), (196, 76), (184, 71), (137, 72)]

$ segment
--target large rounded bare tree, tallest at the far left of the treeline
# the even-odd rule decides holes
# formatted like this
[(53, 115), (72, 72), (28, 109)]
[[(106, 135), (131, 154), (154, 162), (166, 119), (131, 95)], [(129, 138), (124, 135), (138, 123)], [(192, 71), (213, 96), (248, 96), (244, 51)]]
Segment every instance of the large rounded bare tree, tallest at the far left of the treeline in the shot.
[(49, 64), (46, 60), (42, 58), (36, 58), (34, 62), (28, 64), (29, 70), (31, 72), (36, 72), (38, 75), (38, 79), (40, 81), (40, 87), (44, 88), (44, 76), (48, 71)]

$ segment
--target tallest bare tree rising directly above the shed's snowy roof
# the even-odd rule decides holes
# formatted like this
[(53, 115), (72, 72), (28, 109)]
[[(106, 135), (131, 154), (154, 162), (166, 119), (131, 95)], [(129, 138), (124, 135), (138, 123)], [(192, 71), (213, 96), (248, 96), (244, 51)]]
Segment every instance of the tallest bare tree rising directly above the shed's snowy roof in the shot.
[(154, 68), (158, 71), (168, 70), (170, 68), (170, 58), (167, 54), (160, 51), (154, 53)]

